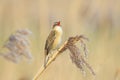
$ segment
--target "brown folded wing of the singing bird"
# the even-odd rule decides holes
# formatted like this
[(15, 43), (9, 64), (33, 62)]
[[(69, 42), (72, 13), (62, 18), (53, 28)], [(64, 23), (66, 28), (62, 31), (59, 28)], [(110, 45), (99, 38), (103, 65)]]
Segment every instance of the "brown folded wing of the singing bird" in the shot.
[(52, 44), (54, 42), (56, 38), (56, 35), (55, 35), (55, 31), (52, 30), (46, 40), (46, 44), (45, 44), (45, 51), (46, 51), (46, 55), (48, 55), (49, 51), (51, 50), (52, 48)]

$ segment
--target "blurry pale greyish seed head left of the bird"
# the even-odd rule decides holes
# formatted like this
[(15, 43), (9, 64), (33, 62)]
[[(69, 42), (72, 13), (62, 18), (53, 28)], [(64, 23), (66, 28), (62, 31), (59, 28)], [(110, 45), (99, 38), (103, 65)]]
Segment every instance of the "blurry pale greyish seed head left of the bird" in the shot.
[(19, 62), (22, 56), (29, 60), (32, 59), (29, 39), (26, 36), (28, 34), (30, 34), (30, 31), (24, 29), (12, 34), (4, 45), (4, 48), (7, 48), (9, 52), (4, 52), (5, 55), (3, 57), (15, 63)]

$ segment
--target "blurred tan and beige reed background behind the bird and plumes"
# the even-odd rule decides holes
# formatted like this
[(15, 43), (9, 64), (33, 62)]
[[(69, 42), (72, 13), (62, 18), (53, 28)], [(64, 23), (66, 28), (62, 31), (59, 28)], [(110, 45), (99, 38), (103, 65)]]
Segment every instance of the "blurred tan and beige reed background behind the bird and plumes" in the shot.
[(61, 21), (63, 42), (84, 34), (88, 42), (88, 62), (96, 72), (86, 77), (72, 64), (69, 51), (60, 55), (40, 80), (120, 80), (119, 0), (0, 0), (0, 47), (11, 33), (21, 28), (30, 37), (34, 57), (14, 64), (0, 57), (0, 80), (31, 80), (44, 60), (44, 44), (54, 21)]

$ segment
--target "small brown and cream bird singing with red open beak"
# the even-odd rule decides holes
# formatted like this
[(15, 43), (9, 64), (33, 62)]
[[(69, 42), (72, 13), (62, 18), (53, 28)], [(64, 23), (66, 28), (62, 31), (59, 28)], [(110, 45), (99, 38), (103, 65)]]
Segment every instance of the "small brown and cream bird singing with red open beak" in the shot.
[(60, 25), (60, 21), (54, 22), (54, 24), (52, 26), (52, 30), (49, 33), (49, 35), (46, 39), (46, 43), (45, 43), (44, 67), (46, 67), (46, 63), (49, 60), (49, 54), (51, 54), (51, 51), (57, 49), (59, 44), (61, 43), (62, 34), (63, 34), (63, 30), (62, 30), (62, 27)]

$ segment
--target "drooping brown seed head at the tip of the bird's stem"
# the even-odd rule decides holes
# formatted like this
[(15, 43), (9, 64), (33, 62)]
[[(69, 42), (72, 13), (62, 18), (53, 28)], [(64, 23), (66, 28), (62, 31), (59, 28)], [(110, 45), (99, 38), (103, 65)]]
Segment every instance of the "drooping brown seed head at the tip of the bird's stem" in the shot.
[[(87, 67), (90, 70), (92, 75), (95, 75), (95, 72), (92, 69), (92, 67), (84, 59), (87, 56), (87, 47), (82, 39), (88, 40), (88, 38), (84, 37), (83, 35), (70, 37), (68, 39), (67, 48), (71, 52), (70, 58), (71, 58), (72, 62), (75, 63), (75, 65), (81, 70), (83, 75), (85, 75), (85, 73), (86, 73), (85, 67)], [(85, 57), (82, 56), (80, 49), (75, 45), (75, 43), (79, 40), (81, 41), (81, 44), (83, 45), (83, 52), (84, 52)]]

